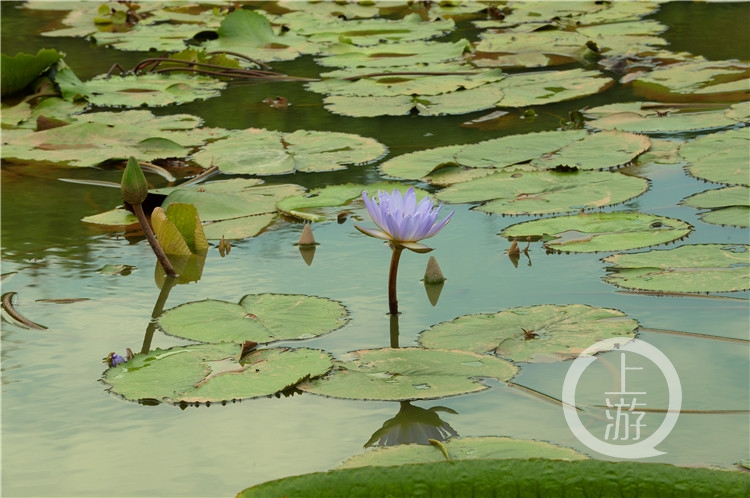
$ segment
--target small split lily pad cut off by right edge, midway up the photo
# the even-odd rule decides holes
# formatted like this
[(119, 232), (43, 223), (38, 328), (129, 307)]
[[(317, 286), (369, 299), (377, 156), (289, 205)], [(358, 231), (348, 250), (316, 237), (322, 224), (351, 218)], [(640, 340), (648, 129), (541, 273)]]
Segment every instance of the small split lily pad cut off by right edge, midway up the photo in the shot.
[(750, 227), (750, 187), (738, 185), (707, 190), (683, 199), (681, 204), (708, 209), (700, 214), (706, 223)]

